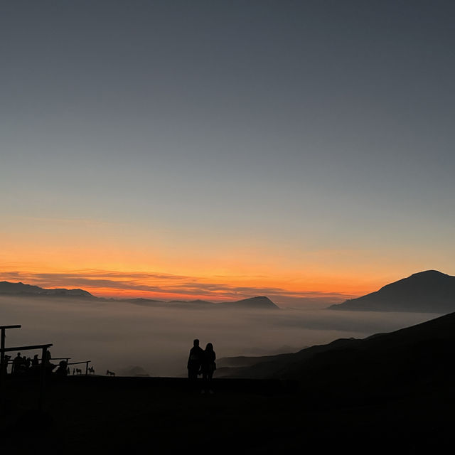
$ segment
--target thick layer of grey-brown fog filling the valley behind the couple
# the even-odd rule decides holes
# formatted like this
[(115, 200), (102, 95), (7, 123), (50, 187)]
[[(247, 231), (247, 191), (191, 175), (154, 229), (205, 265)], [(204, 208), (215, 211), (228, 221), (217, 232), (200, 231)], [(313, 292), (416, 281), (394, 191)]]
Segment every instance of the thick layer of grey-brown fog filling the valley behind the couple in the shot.
[[(6, 346), (53, 343), (53, 357), (92, 360), (97, 374), (117, 374), (134, 366), (150, 375), (185, 375), (193, 338), (213, 343), (218, 358), (268, 355), (363, 338), (434, 318), (435, 314), (330, 310), (186, 310), (109, 301), (0, 296)], [(32, 351), (22, 355), (33, 356)], [(16, 355), (16, 353), (13, 353)], [(77, 365), (79, 367), (79, 365)]]

